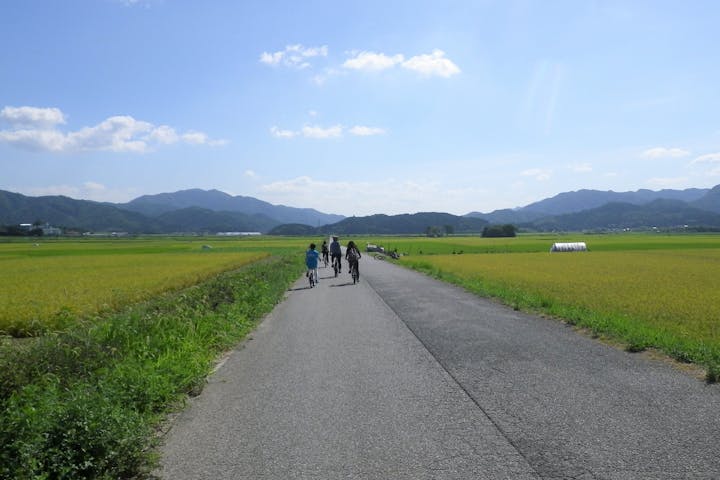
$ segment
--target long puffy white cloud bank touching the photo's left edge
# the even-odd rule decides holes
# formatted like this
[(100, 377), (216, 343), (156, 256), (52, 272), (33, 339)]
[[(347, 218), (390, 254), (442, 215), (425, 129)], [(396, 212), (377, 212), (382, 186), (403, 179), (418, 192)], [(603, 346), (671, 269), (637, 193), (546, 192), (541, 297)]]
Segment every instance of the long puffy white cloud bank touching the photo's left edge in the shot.
[(156, 127), (150, 122), (128, 115), (109, 117), (92, 127), (63, 132), (58, 125), (65, 115), (54, 108), (5, 107), (2, 118), (12, 123), (9, 130), (0, 130), (0, 143), (48, 152), (111, 151), (142, 153), (157, 145), (188, 143), (223, 145), (224, 140), (211, 140), (207, 134), (189, 131), (182, 135), (167, 125)]

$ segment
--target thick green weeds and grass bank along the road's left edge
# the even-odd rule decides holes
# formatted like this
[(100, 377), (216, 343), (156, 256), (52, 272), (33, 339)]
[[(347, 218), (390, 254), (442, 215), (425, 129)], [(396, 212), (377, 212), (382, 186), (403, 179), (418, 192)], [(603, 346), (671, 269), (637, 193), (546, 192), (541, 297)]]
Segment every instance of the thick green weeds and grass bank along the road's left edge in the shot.
[(165, 414), (197, 394), (297, 279), (273, 255), (120, 312), (0, 342), (0, 478), (143, 478)]

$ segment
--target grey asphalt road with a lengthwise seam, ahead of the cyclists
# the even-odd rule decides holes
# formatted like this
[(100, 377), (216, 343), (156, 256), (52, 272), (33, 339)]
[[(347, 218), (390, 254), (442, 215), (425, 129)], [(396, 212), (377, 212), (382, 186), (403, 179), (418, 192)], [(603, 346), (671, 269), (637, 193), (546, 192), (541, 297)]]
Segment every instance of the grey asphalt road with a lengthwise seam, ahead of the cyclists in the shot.
[(165, 438), (167, 479), (717, 479), (720, 387), (368, 256), (320, 268)]

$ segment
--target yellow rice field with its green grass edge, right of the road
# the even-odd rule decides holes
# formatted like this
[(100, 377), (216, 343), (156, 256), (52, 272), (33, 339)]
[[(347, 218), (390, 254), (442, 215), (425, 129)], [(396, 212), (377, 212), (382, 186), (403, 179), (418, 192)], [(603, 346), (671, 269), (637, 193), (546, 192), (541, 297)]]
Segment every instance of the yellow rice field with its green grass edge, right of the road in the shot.
[(720, 374), (720, 249), (435, 255), (402, 263), (518, 310)]

